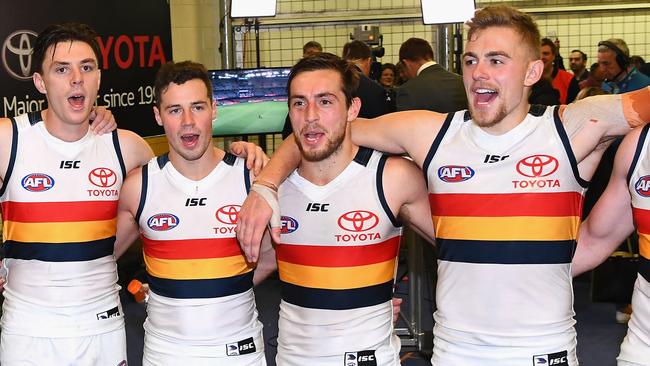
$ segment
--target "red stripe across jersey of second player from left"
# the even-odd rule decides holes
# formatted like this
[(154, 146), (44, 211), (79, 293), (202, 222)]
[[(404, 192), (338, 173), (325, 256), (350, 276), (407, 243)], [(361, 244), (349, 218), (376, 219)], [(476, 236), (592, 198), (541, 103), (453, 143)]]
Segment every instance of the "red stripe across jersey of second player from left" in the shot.
[(207, 259), (242, 255), (236, 238), (151, 240), (142, 236), (144, 253), (159, 259)]

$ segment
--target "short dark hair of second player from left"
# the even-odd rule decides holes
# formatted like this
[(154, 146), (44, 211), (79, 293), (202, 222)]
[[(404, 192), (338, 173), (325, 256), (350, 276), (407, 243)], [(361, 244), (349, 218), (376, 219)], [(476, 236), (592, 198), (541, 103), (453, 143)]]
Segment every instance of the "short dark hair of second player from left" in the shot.
[(156, 95), (156, 106), (160, 108), (161, 95), (167, 90), (169, 84), (184, 84), (186, 81), (198, 79), (205, 84), (207, 96), (212, 100), (212, 83), (208, 76), (208, 70), (202, 64), (192, 61), (167, 62), (158, 69), (154, 90)]

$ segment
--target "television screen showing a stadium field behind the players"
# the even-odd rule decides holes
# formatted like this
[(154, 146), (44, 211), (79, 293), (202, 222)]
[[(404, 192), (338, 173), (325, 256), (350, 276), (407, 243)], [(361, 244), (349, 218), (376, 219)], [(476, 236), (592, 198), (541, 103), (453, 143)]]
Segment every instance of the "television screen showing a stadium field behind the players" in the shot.
[(291, 68), (212, 70), (212, 94), (217, 101), (213, 136), (279, 133), (287, 107)]

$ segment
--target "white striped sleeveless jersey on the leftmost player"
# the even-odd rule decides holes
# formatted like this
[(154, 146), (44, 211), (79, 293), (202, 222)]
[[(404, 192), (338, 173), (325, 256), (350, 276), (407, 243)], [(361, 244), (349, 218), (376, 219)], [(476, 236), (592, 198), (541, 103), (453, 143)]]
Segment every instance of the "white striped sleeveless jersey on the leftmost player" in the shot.
[(49, 134), (40, 112), (12, 125), (1, 188), (2, 331), (81, 337), (119, 329), (113, 246), (125, 167), (117, 131), (65, 142)]

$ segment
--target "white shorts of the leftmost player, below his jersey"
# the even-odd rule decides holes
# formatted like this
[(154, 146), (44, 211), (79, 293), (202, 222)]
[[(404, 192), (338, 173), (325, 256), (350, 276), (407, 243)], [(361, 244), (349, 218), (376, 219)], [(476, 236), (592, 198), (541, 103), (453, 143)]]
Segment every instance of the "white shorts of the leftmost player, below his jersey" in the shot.
[(125, 366), (124, 327), (85, 337), (45, 338), (2, 333), (3, 366)]

